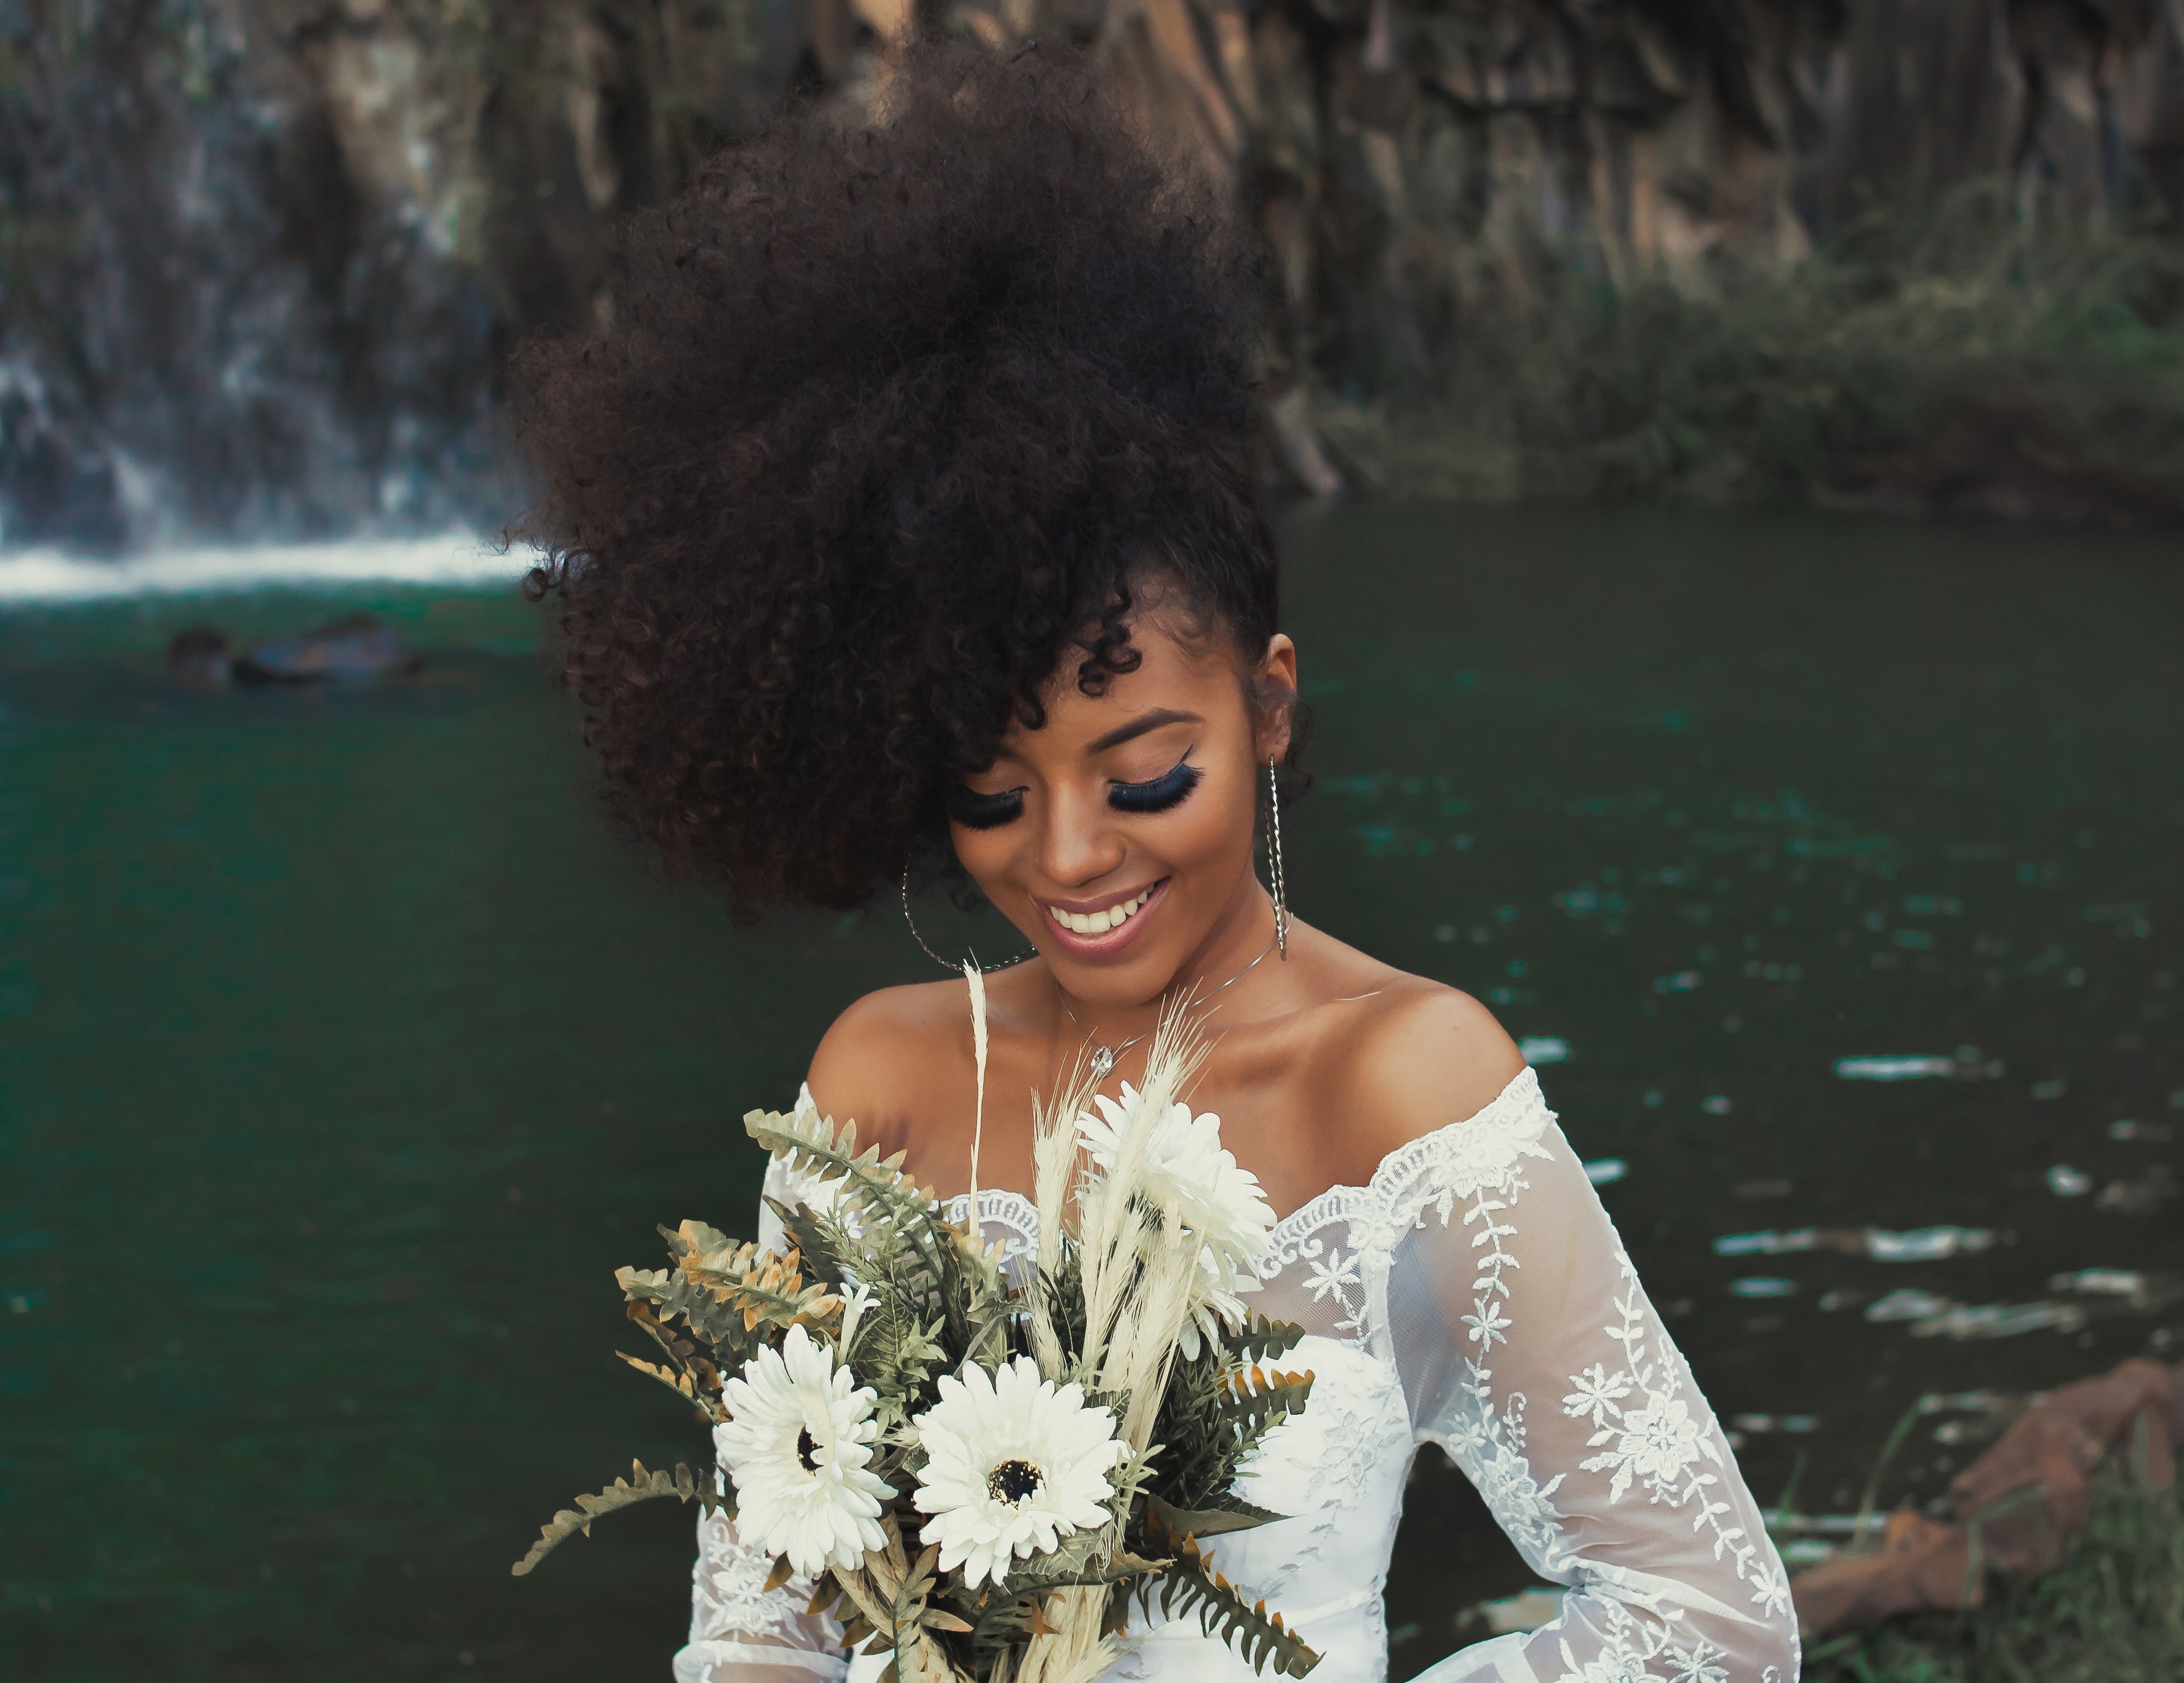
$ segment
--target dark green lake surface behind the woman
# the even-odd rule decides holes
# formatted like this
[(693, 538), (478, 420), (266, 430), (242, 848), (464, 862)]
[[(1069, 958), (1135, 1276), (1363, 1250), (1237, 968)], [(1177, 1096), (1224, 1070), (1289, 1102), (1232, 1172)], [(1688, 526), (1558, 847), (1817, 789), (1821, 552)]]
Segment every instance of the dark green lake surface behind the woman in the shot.
[[(1854, 1508), (1922, 1393), (2177, 1360), (2173, 539), (1367, 509), (1289, 554), (1293, 899), (1535, 1041), (1762, 1502)], [(419, 677), (162, 675), (192, 620), (356, 607)], [(0, 613), (7, 1676), (666, 1676), (688, 1511), (507, 1574), (705, 1452), (614, 1360), (612, 1270), (749, 1231), (740, 1113), (930, 967), (885, 906), (660, 886), (572, 738), (513, 592)], [(1524, 1583), (1422, 1460), (1396, 1674)]]

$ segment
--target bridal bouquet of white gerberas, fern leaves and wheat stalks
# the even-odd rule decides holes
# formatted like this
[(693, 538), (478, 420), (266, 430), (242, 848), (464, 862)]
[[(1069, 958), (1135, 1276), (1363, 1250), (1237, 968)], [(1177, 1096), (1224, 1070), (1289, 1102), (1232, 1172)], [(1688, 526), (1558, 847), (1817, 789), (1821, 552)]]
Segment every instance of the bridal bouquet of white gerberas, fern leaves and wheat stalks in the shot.
[[(985, 1091), (985, 989), (965, 971)], [(734, 1517), (775, 1556), (769, 1589), (815, 1585), (880, 1683), (1090, 1683), (1131, 1607), (1195, 1615), (1256, 1670), (1317, 1661), (1282, 1615), (1212, 1565), (1206, 1539), (1280, 1515), (1238, 1495), (1258, 1441), (1310, 1373), (1271, 1364), (1302, 1329), (1247, 1316), (1273, 1211), (1179, 1089), (1203, 1041), (1179, 1011), (1120, 1102), (1079, 1065), (1033, 1100), (1040, 1242), (1029, 1284), (972, 1216), (950, 1222), (902, 1155), (858, 1153), (806, 1100), (751, 1111), (758, 1144), (826, 1196), (773, 1201), (786, 1251), (703, 1222), (660, 1229), (668, 1268), (622, 1268), (627, 1314), (664, 1362), (625, 1356), (714, 1425), (710, 1469), (633, 1469), (544, 1528), (566, 1537), (655, 1495)]]

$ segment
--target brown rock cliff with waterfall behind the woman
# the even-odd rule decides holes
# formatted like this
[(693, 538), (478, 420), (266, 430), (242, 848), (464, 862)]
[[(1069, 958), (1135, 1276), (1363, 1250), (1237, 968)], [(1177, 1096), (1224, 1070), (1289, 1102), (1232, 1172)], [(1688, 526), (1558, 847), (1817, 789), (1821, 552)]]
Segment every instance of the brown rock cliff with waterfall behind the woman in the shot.
[[(0, 541), (494, 524), (494, 380), (609, 308), (612, 227), (930, 0), (11, 0)], [(946, 0), (1094, 48), (1265, 234), (1304, 391), (1452, 378), (1590, 277), (1797, 262), (1874, 192), (2171, 218), (2184, 0)]]

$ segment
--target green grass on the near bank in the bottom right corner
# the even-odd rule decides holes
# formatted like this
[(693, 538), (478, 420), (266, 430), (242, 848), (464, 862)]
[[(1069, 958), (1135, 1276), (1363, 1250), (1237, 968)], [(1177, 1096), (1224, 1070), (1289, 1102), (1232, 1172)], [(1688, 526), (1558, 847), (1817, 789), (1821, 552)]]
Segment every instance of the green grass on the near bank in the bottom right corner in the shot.
[(1808, 1683), (2177, 1683), (2184, 1515), (2121, 1473), (2094, 1489), (2073, 1556), (2029, 1583), (1990, 1580), (1970, 1613), (1889, 1620), (1806, 1650)]

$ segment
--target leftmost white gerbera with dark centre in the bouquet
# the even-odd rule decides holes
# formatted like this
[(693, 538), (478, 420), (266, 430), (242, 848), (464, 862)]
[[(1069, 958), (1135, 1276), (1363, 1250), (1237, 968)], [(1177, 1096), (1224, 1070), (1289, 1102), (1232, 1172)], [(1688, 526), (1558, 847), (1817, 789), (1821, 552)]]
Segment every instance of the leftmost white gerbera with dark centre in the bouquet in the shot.
[(856, 1388), (834, 1351), (791, 1327), (782, 1349), (760, 1349), (743, 1377), (721, 1386), (729, 1412), (712, 1428), (736, 1480), (736, 1532), (767, 1554), (786, 1554), (802, 1576), (854, 1567), (887, 1548), (880, 1502), (895, 1489), (869, 1471), (878, 1393)]

